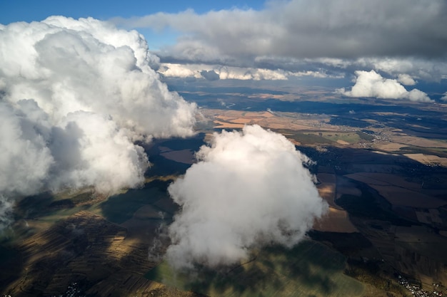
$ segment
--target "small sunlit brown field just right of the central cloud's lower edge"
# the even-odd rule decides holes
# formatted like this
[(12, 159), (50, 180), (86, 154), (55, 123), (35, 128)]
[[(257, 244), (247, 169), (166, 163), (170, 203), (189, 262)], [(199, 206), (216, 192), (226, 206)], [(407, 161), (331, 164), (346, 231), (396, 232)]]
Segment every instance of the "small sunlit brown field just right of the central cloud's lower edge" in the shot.
[(349, 220), (346, 210), (329, 207), (329, 212), (315, 224), (313, 229), (324, 232), (353, 233), (358, 232), (357, 228)]

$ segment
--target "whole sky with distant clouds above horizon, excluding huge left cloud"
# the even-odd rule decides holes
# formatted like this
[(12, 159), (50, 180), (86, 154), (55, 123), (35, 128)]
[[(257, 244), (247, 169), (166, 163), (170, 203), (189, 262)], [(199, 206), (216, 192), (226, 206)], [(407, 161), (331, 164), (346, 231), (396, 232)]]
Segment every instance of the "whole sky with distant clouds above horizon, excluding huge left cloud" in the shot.
[(0, 11), (1, 24), (91, 16), (136, 29), (160, 58), (156, 70), (166, 77), (347, 78), (354, 84), (338, 90), (347, 97), (427, 103), (434, 102), (433, 95), (446, 98), (447, 88), (432, 98), (418, 89), (420, 83), (446, 85), (444, 0), (3, 0)]

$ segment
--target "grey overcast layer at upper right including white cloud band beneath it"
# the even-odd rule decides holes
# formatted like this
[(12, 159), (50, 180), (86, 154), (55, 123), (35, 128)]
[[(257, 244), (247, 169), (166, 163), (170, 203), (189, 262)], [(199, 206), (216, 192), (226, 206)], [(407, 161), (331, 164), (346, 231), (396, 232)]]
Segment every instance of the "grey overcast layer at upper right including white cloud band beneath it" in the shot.
[[(423, 80), (447, 77), (447, 2), (443, 0), (268, 1), (265, 9), (153, 14), (113, 19), (174, 28), (164, 63), (208, 63), (276, 71), (375, 69)], [(266, 78), (268, 79), (268, 78)]]

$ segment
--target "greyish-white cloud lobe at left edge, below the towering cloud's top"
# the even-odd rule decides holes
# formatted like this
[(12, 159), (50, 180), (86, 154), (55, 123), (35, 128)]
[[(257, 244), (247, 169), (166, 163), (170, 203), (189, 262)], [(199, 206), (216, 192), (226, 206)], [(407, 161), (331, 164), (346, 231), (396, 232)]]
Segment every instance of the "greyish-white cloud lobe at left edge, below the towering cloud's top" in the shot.
[(19, 101), (18, 109), (0, 102), (2, 196), (39, 192), (54, 163), (51, 150), (46, 145), (49, 131), (45, 115), (39, 114), (39, 110), (33, 110), (34, 107), (29, 105), (34, 104), (27, 100)]

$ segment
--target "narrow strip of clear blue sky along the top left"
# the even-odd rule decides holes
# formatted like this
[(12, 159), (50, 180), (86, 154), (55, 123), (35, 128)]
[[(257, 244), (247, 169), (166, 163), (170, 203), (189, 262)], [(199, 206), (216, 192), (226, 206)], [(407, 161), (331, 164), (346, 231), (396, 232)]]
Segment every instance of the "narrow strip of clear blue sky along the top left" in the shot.
[(0, 23), (9, 24), (15, 21), (41, 21), (47, 16), (71, 16), (74, 19), (92, 16), (95, 19), (106, 20), (114, 16), (128, 18), (144, 16), (159, 11), (176, 13), (186, 9), (194, 9), (199, 14), (210, 10), (231, 9), (261, 9), (263, 1), (256, 0), (109, 0), (109, 1), (61, 1), (61, 0), (1, 0)]

